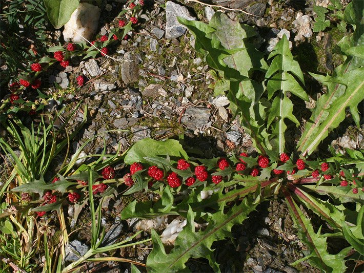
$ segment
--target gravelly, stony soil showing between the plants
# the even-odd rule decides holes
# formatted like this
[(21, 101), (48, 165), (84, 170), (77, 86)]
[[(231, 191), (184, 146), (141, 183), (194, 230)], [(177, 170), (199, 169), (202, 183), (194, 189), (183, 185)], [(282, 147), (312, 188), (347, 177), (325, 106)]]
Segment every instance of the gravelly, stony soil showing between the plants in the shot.
[[(201, 1), (204, 2), (204, 1)], [(201, 157), (212, 157), (253, 150), (251, 138), (240, 127), (238, 119), (229, 112), (229, 100), (223, 95), (214, 96), (210, 85), (214, 82), (204, 56), (195, 52), (193, 36), (178, 24), (176, 16), (208, 22), (215, 11), (226, 13), (240, 23), (249, 24), (258, 32), (256, 47), (269, 53), (283, 34), (290, 37), (292, 53), (305, 74), (306, 89), (318, 88), (309, 76), (310, 72), (327, 73), (342, 61), (332, 51), (333, 45), (343, 36), (337, 30), (313, 33), (313, 4), (325, 5), (327, 0), (317, 1), (249, 1), (213, 0), (214, 7), (195, 1), (162, 0), (145, 1), (145, 9), (139, 15), (139, 27), (130, 33), (131, 39), (123, 40), (111, 48), (112, 58), (99, 57), (81, 61), (72, 59), (72, 67), (48, 71), (49, 83), (56, 82), (67, 90), (75, 86), (75, 73), (82, 72), (88, 83), (68, 96), (71, 113), (76, 101), (83, 98), (89, 117), (83, 131), (72, 143), (72, 153), (88, 141), (85, 154), (99, 153), (106, 141), (107, 153), (115, 153), (118, 144), (124, 152), (134, 142), (151, 137), (154, 139), (178, 138), (184, 134), (184, 142), (190, 151), (198, 148)], [(117, 24), (115, 16), (125, 1), (104, 1), (99, 22), (99, 35)], [(111, 10), (109, 6), (111, 6)], [(224, 9), (229, 8), (229, 9)], [(245, 11), (245, 12), (242, 12)], [(62, 36), (59, 40), (63, 42)], [(64, 103), (64, 102), (63, 102)], [(312, 108), (311, 104), (303, 106)], [(48, 110), (52, 113), (62, 108), (54, 100)], [(307, 110), (308, 111), (308, 110)], [(71, 119), (69, 133), (82, 121), (80, 109)], [(30, 117), (25, 117), (28, 122)], [(299, 128), (292, 129), (292, 140)], [(108, 131), (108, 132), (107, 132)], [(106, 132), (106, 133), (105, 133)], [(363, 131), (347, 124), (330, 136), (334, 148), (358, 149), (364, 145)], [(293, 142), (293, 141), (292, 141)], [(292, 143), (294, 145), (295, 143)], [(328, 153), (323, 151), (323, 153)], [(55, 167), (56, 168), (56, 167)], [(116, 166), (118, 176), (123, 176), (123, 164)], [(3, 168), (2, 171), (5, 172)], [(134, 194), (117, 196), (104, 203), (103, 221), (109, 230), (105, 244), (114, 241), (118, 234), (132, 234), (137, 228), (161, 230), (173, 219), (157, 219), (149, 224), (137, 224), (139, 220), (119, 221), (120, 211), (135, 198), (148, 200), (153, 195)], [(76, 212), (70, 207), (68, 215)], [(258, 207), (244, 225), (233, 229), (234, 240), (216, 242), (217, 262), (223, 271), (254, 272), (315, 272), (307, 263), (290, 266), (305, 256), (305, 247), (294, 235), (293, 222), (284, 203), (271, 200)], [(84, 210), (76, 223), (69, 219), (71, 227), (80, 228), (70, 237), (72, 247), (80, 254), (87, 251), (90, 241), (89, 215)], [(134, 221), (134, 222), (133, 222)], [(160, 223), (159, 223), (159, 222)], [(148, 232), (148, 231), (147, 231)], [(120, 257), (145, 262), (151, 244), (126, 248)], [(68, 250), (69, 261), (75, 257)], [(192, 271), (211, 271), (207, 260), (191, 260)], [(139, 267), (144, 270), (143, 267)], [(116, 262), (89, 263), (84, 270), (93, 272), (130, 272), (129, 265)]]

